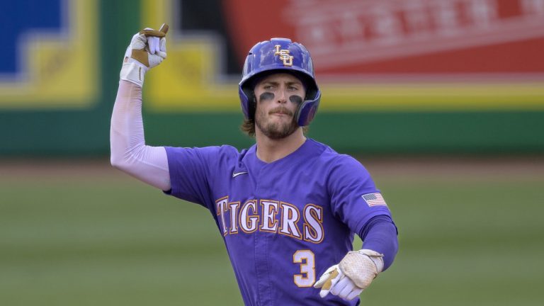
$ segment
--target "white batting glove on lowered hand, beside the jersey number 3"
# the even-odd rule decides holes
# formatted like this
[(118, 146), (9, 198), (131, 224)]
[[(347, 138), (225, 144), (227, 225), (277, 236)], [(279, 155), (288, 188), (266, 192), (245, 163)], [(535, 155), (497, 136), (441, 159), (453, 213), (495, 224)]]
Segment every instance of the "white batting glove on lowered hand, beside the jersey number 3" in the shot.
[(331, 266), (314, 284), (319, 296), (331, 293), (353, 300), (363, 292), (383, 269), (383, 255), (370, 249), (349, 251), (340, 263)]

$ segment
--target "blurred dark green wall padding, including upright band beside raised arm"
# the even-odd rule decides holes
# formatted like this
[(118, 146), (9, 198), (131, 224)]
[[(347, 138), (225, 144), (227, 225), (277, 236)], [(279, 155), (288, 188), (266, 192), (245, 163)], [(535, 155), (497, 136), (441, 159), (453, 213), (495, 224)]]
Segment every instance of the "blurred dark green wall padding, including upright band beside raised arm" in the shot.
[[(96, 101), (83, 108), (0, 108), (0, 155), (108, 154), (120, 64), (130, 37), (140, 28), (141, 12), (128, 0), (101, 0), (98, 6)], [(232, 95), (237, 95), (236, 88)], [(542, 153), (543, 119), (544, 111), (321, 110), (309, 135), (340, 152)], [(237, 111), (157, 113), (145, 109), (144, 122), (150, 145), (242, 148), (253, 142), (239, 131), (242, 114)]]

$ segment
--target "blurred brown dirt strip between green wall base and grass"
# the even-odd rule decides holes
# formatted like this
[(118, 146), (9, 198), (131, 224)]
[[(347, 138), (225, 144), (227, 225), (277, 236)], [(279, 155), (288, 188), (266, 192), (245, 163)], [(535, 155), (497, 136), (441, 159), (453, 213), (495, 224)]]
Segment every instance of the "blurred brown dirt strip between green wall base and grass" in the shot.
[[(500, 179), (508, 176), (544, 176), (544, 157), (360, 157), (373, 176), (385, 178), (436, 176), (462, 178), (479, 176)], [(0, 180), (26, 176), (44, 179), (126, 179), (109, 159), (0, 159)]]

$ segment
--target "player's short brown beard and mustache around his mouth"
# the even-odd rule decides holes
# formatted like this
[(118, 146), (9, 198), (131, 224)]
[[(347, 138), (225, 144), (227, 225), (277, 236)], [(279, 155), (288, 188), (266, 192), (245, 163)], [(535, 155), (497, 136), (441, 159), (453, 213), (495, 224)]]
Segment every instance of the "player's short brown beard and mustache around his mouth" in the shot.
[[(271, 122), (271, 120), (268, 119), (269, 115), (279, 112), (290, 115), (292, 120), (288, 122)], [(298, 128), (293, 112), (282, 106), (274, 108), (273, 110), (269, 111), (268, 114), (264, 113), (263, 111), (257, 111), (255, 116), (255, 125), (257, 128), (259, 128), (259, 130), (261, 130), (261, 132), (263, 132), (264, 135), (266, 135), (266, 137), (273, 140), (288, 137)]]

